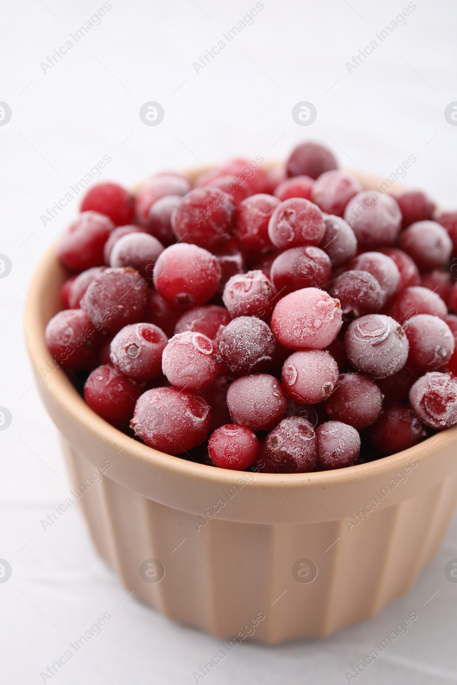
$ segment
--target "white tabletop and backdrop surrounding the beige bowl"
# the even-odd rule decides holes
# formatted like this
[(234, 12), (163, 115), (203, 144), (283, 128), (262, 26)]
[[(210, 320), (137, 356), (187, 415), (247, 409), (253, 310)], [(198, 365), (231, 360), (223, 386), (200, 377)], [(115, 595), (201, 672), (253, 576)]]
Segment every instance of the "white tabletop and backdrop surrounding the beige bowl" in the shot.
[[(46, 73), (40, 62), (102, 2), (3, 1), (1, 8), (0, 100), (12, 108), (11, 121), (0, 127), (0, 253), (13, 265), (0, 280), (0, 405), (13, 417), (0, 432), (0, 558), (13, 569), (0, 584), (0, 680), (8, 684), (42, 682), (40, 671), (107, 611), (112, 620), (103, 633), (53, 683), (190, 684), (193, 671), (219, 650), (218, 640), (175, 625), (133, 597), (119, 606), (127, 592), (97, 557), (76, 507), (46, 532), (40, 526), (70, 489), (55, 428), (32, 387), (21, 323), (32, 272), (79, 200), (43, 226), (40, 215), (51, 203), (103, 155), (112, 162), (102, 179), (132, 186), (149, 173), (199, 161), (282, 159), (312, 138), (329, 145), (341, 164), (383, 177), (415, 155), (404, 182), (457, 206), (457, 127), (444, 118), (445, 106), (457, 100), (452, 1), (417, 0), (406, 25), (351, 73), (345, 62), (405, 0), (265, 0), (254, 24), (199, 73), (193, 62), (253, 0), (111, 4), (101, 24)], [(138, 116), (151, 100), (165, 110), (156, 127)], [(309, 128), (291, 117), (303, 100), (318, 112)], [(419, 618), (408, 634), (358, 682), (457, 682), (457, 584), (443, 573), (456, 557), (454, 521), (410, 594), (363, 630), (355, 625), (326, 640), (277, 647), (243, 644), (205, 682), (347, 682), (345, 671), (412, 611)]]

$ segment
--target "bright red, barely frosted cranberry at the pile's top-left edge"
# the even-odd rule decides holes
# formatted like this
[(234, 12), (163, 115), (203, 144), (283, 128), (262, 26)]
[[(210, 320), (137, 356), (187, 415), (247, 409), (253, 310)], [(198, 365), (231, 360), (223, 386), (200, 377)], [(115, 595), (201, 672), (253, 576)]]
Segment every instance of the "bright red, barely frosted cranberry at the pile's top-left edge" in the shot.
[(133, 221), (134, 199), (128, 190), (115, 183), (100, 183), (86, 193), (81, 211), (103, 214), (114, 226), (125, 226)]

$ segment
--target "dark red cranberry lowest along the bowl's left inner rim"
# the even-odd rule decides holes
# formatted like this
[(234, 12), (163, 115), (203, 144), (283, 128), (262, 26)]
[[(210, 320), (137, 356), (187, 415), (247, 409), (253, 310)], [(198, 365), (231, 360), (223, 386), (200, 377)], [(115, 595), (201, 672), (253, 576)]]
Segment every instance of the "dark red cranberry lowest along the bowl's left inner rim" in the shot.
[(90, 409), (112, 423), (124, 423), (132, 419), (140, 395), (140, 386), (111, 364), (92, 371), (84, 384), (84, 399)]

